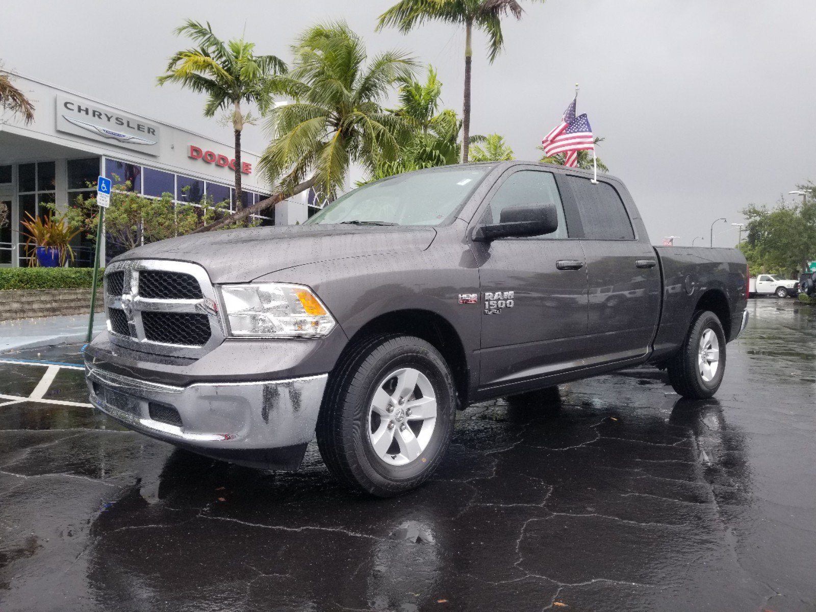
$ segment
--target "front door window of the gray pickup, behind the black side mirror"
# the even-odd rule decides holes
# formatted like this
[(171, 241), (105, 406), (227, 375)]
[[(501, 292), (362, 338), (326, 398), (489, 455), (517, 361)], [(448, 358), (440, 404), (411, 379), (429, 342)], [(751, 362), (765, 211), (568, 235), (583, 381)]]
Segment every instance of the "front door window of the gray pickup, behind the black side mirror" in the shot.
[(558, 229), (553, 233), (536, 236), (536, 238), (567, 237), (564, 206), (561, 203), (561, 195), (558, 193), (552, 172), (522, 170), (510, 175), (490, 199), (490, 214), (493, 216), (493, 223), (499, 223), (503, 209), (509, 206), (530, 206), (531, 204), (555, 204), (558, 214)]

